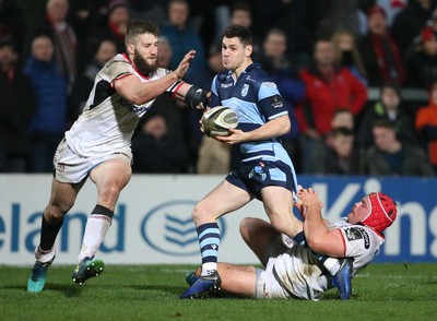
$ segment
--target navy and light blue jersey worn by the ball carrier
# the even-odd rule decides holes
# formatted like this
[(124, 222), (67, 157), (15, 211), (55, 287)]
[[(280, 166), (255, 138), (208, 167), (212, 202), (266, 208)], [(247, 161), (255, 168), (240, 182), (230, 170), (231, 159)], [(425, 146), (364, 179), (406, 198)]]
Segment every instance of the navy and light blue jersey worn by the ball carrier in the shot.
[[(267, 121), (287, 115), (281, 94), (265, 71), (252, 63), (234, 82), (232, 71), (217, 74), (212, 81), (211, 107), (227, 106), (238, 115), (238, 129), (255, 130)], [(243, 162), (282, 160), (293, 168), (288, 154), (277, 138), (240, 144)]]

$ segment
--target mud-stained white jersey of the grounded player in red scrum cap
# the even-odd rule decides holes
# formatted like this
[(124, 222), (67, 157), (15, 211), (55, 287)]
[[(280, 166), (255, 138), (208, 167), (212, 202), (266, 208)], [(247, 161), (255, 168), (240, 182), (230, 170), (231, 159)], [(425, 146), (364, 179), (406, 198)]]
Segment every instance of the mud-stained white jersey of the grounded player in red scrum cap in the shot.
[[(356, 275), (370, 263), (383, 239), (366, 226), (351, 225), (345, 221), (335, 222), (334, 226), (343, 237), (344, 257), (353, 259), (352, 274)], [(308, 248), (287, 237), (284, 238), (288, 249), (276, 258), (273, 266), (274, 277), (290, 297), (321, 299), (322, 294), (332, 287), (331, 277), (326, 276), (322, 264)]]

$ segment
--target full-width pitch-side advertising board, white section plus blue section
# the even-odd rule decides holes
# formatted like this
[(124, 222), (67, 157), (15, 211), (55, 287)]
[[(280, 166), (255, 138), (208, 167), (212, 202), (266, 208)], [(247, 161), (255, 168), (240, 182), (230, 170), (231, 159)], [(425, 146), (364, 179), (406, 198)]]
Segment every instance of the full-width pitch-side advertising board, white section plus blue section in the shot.
[[(161, 264), (201, 262), (191, 211), (223, 176), (133, 175), (121, 192), (113, 226), (97, 255), (107, 263)], [(436, 262), (437, 179), (300, 176), (315, 188), (323, 217), (345, 216), (363, 195), (383, 191), (398, 203), (398, 218), (385, 233), (377, 262)], [(0, 175), (0, 264), (32, 264), (39, 242), (40, 217), (50, 194), (50, 175)], [(87, 181), (58, 235), (57, 263), (75, 264), (86, 217), (97, 198)], [(220, 261), (251, 264), (258, 260), (239, 236), (244, 217), (267, 218), (253, 200), (218, 219)]]

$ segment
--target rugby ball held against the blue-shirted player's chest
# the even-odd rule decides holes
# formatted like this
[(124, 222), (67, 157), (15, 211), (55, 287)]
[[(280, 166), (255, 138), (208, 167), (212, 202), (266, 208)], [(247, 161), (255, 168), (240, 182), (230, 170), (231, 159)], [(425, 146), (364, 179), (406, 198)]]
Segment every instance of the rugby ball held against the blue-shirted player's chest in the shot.
[(238, 116), (229, 107), (212, 107), (203, 114), (202, 126), (208, 136), (226, 136), (229, 134), (228, 128), (238, 126)]

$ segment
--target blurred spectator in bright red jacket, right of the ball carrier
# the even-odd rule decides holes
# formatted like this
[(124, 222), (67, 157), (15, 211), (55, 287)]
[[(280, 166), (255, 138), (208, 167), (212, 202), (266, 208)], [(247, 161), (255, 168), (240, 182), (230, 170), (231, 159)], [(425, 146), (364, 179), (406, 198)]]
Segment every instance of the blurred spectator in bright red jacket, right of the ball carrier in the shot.
[[(309, 173), (306, 162), (311, 157), (311, 144), (320, 142), (330, 130), (336, 109), (359, 114), (367, 100), (367, 88), (346, 68), (335, 66), (332, 41), (319, 39), (315, 44), (315, 64), (300, 71), (306, 92), (303, 104), (296, 109), (302, 135), (304, 173)], [(309, 157), (309, 158), (308, 158)]]

